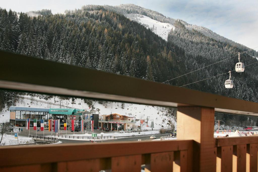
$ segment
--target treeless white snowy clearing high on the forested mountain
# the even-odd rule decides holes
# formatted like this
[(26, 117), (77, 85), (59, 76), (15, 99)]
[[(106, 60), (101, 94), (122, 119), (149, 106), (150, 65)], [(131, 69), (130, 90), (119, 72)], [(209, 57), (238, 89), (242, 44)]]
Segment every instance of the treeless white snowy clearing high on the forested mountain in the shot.
[(175, 27), (170, 23), (162, 23), (141, 14), (127, 14), (126, 17), (141, 23), (146, 28), (150, 28), (152, 32), (165, 40), (167, 40), (170, 30), (175, 29)]

